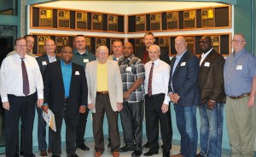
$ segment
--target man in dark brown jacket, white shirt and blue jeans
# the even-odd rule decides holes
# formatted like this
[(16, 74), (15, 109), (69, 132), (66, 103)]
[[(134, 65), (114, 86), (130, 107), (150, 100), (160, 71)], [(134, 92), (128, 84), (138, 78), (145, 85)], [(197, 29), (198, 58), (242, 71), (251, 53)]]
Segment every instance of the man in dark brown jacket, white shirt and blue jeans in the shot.
[(198, 82), (201, 92), (201, 151), (196, 156), (221, 156), (225, 59), (212, 48), (211, 36), (201, 37), (200, 49)]

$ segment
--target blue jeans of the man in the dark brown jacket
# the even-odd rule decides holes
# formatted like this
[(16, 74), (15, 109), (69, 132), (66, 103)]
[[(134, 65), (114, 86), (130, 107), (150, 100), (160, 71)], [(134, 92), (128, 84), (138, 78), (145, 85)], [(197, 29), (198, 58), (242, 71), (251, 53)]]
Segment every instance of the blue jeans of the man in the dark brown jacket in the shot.
[(220, 157), (223, 135), (224, 104), (215, 103), (212, 110), (207, 104), (200, 105), (200, 154), (204, 156)]

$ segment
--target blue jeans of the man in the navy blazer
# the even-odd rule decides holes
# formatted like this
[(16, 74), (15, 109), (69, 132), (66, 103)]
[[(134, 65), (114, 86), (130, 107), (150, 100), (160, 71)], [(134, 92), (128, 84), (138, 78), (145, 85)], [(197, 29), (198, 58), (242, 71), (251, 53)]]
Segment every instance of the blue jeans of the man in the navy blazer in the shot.
[(181, 136), (181, 154), (183, 157), (195, 157), (197, 147), (196, 106), (174, 104), (177, 130)]

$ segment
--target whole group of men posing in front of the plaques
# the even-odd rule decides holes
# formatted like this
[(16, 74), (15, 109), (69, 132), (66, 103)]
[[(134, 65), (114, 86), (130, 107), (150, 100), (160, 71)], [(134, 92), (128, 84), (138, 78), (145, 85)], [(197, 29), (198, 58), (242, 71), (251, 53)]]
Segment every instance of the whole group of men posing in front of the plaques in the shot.
[[(143, 148), (149, 148), (144, 156), (159, 154), (159, 126), (162, 156), (169, 157), (172, 102), (181, 135), (180, 153), (173, 157), (221, 156), (224, 103), (231, 156), (253, 156), (256, 60), (245, 50), (244, 36), (234, 35), (234, 52), (226, 61), (212, 47), (210, 36), (201, 37), (199, 58), (189, 52), (183, 36), (175, 39), (177, 55), (172, 60), (154, 41), (154, 34), (146, 33), (145, 48), (134, 52), (131, 42), (123, 44), (115, 40), (111, 46), (113, 55), (108, 56), (108, 48), (100, 46), (95, 56), (86, 50), (85, 36), (78, 35), (74, 38), (74, 49), (64, 46), (58, 57), (55, 42), (47, 39), (46, 54), (33, 59), (29, 53), (32, 36), (16, 39), (15, 52), (3, 60), (0, 77), (3, 108), (6, 109), (6, 155), (19, 156), (21, 116), (20, 155), (34, 156), (32, 127), (37, 103), (41, 156), (47, 155), (43, 111), (48, 113), (51, 109), (55, 115), (56, 132), (49, 129), (48, 153), (53, 157), (61, 156), (64, 119), (67, 155), (76, 157), (76, 148), (89, 150), (84, 144), (84, 132), (90, 109), (95, 156), (102, 156), (105, 150), (102, 124), (106, 114), (114, 157), (127, 151), (133, 151), (131, 156), (141, 156)], [(199, 154), (196, 154), (196, 107), (201, 117)], [(148, 142), (143, 145), (144, 113)], [(124, 132), (122, 148), (119, 148), (118, 114)]]

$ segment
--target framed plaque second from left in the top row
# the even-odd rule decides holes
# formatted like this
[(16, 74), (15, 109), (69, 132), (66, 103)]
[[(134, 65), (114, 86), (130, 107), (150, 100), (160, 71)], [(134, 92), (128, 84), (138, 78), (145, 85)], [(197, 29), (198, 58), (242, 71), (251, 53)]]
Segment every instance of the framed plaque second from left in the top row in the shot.
[(70, 11), (58, 10), (58, 27), (70, 28)]

